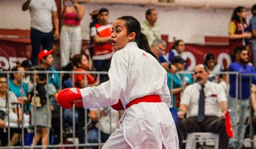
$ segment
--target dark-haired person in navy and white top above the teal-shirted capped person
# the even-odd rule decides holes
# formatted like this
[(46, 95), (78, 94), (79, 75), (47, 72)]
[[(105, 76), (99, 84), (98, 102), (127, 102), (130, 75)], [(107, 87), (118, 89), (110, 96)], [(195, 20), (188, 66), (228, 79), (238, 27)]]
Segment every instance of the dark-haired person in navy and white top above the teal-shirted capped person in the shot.
[[(185, 47), (185, 42), (183, 40), (176, 40), (174, 42), (174, 45), (170, 48), (170, 52), (166, 53), (166, 58), (169, 61), (172, 61), (172, 58), (174, 56), (180, 56), (181, 58), (183, 58), (185, 61), (187, 60), (187, 56), (184, 55), (184, 51), (185, 51), (186, 47)], [(187, 63), (185, 63), (185, 69), (187, 68)]]

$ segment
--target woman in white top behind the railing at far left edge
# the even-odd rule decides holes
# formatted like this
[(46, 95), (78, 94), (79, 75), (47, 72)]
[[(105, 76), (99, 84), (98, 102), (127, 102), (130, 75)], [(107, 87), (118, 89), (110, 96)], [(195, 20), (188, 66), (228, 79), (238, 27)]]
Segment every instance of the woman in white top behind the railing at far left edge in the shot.
[[(0, 74), (0, 146), (6, 146), (8, 145), (8, 129), (5, 125), (4, 120), (7, 118), (8, 113), (8, 103), (9, 103), (9, 114), (11, 112), (15, 112), (16, 115), (18, 115), (17, 123), (21, 124), (22, 122), (22, 109), (15, 106), (14, 103), (18, 103), (17, 97), (12, 91), (8, 91), (8, 85), (7, 85), (7, 76), (5, 74)], [(8, 93), (8, 96), (7, 96)], [(10, 146), (14, 146), (16, 143), (18, 143), (19, 138), (19, 132), (18, 129), (10, 128)]]

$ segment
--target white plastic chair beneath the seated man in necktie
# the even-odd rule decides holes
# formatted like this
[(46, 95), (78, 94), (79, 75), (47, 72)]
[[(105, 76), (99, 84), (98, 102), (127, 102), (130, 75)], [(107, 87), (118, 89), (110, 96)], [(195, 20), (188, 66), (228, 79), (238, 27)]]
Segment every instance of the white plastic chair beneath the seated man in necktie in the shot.
[(196, 148), (197, 139), (214, 139), (214, 149), (219, 148), (219, 134), (211, 132), (192, 132), (187, 133), (186, 149)]

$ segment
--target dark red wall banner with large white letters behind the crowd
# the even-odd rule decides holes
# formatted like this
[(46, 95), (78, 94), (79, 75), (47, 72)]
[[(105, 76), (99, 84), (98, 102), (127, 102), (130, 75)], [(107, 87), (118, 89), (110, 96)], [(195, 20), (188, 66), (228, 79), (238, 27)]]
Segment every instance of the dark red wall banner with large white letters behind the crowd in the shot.
[[(84, 49), (85, 47), (88, 47), (87, 43), (86, 41), (83, 42), (83, 51), (86, 50)], [(169, 43), (166, 49), (170, 49), (172, 45), (172, 43)], [(185, 55), (188, 60), (188, 70), (193, 70), (198, 63), (203, 63), (204, 57), (208, 52), (212, 52), (216, 56), (217, 62), (226, 67), (231, 62), (228, 50), (227, 45), (186, 44)], [(58, 55), (59, 53), (56, 52), (55, 56), (58, 57)], [(11, 69), (23, 60), (30, 59), (30, 56), (31, 44), (29, 42), (0, 39), (0, 67)]]

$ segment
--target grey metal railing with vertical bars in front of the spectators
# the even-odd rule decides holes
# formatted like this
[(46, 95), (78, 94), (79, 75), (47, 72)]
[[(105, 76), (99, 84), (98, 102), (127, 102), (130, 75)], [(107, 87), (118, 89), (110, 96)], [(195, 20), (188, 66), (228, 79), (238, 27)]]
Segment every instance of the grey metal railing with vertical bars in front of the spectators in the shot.
[[(40, 73), (40, 74), (46, 74), (46, 88), (48, 88), (49, 87), (49, 74), (58, 74), (59, 75), (59, 82), (60, 82), (60, 88), (62, 88), (62, 82), (63, 82), (63, 80), (62, 80), (62, 77), (63, 77), (63, 75), (64, 74), (70, 74), (70, 77), (71, 77), (71, 80), (72, 80), (72, 84), (73, 84), (73, 86), (74, 86), (74, 84), (75, 84), (75, 74), (84, 74), (84, 79), (85, 80), (87, 80), (86, 79), (86, 74), (87, 73), (90, 73), (90, 74), (92, 74), (92, 75), (96, 75), (98, 78), (99, 78), (99, 82), (100, 82), (100, 75), (106, 75), (107, 74), (107, 72), (73, 72), (73, 71), (70, 71), (70, 72), (67, 72), (67, 71), (44, 71), (44, 72), (38, 72), (38, 71), (24, 71), (24, 72), (18, 72), (18, 71), (16, 71), (16, 72), (12, 72), (12, 71), (5, 71), (5, 72), (1, 72), (1, 73), (5, 73), (5, 74), (7, 74), (7, 77), (9, 78), (9, 76), (10, 76), (10, 73), (21, 73), (21, 74), (30, 74), (31, 76), (33, 76), (33, 81), (32, 82), (36, 82), (36, 75), (38, 74), (38, 73)], [(239, 73), (237, 73), (237, 72), (211, 72), (212, 74), (216, 74), (217, 76), (219, 75), (219, 74), (226, 74), (226, 76), (227, 76), (227, 80), (226, 80), (226, 82), (229, 82), (230, 81), (230, 77), (229, 77), (229, 75), (235, 75), (235, 81), (236, 81), (236, 87), (235, 87), (235, 90), (236, 90), (236, 94), (235, 94), (235, 106), (237, 107), (237, 105), (239, 104), (239, 99), (241, 99), (241, 97), (238, 97), (238, 95), (240, 95), (241, 96), (241, 92), (242, 92), (242, 89), (241, 89), (241, 87), (239, 88), (239, 86), (241, 86), (241, 83), (239, 83), (239, 82), (241, 82), (242, 81), (242, 76), (249, 76), (250, 77), (250, 84), (252, 84), (253, 83), (253, 77), (256, 77), (256, 74), (239, 74)], [(179, 72), (179, 73), (177, 73), (177, 74), (181, 74), (181, 75), (183, 75), (183, 77), (182, 77), (182, 80), (181, 80), (181, 84), (185, 84), (185, 74), (191, 74), (191, 75), (193, 75), (193, 72)], [(193, 78), (193, 77), (192, 77)], [(9, 79), (7, 79), (7, 81), (8, 81)], [(194, 82), (194, 80), (195, 79), (193, 79), (193, 82)], [(23, 79), (23, 77), (21, 78), (21, 82), (23, 82), (24, 81), (24, 79)], [(172, 77), (171, 77), (171, 88), (173, 89), (173, 75), (172, 75)], [(8, 86), (9, 86), (9, 81), (8, 81)], [(85, 86), (87, 86), (87, 82), (85, 81)], [(184, 88), (183, 88), (183, 90), (184, 90)], [(238, 91), (240, 92), (240, 94), (238, 94)], [(249, 91), (251, 91), (251, 90), (249, 90)], [(23, 86), (21, 86), (21, 93), (22, 93), (22, 95), (23, 95), (23, 92), (24, 92), (24, 88), (23, 88)], [(8, 95), (8, 94), (7, 94)], [(226, 92), (226, 95), (228, 95), (228, 93)], [(33, 96), (34, 97), (36, 97), (36, 88), (34, 87), (33, 88)], [(173, 95), (171, 95), (171, 96), (173, 96)], [(50, 98), (49, 98), (49, 93), (48, 92), (46, 92), (46, 97), (47, 97), (47, 102), (46, 102), (46, 109), (49, 109), (50, 108)], [(7, 97), (8, 98), (8, 97)], [(36, 102), (36, 100), (35, 100), (35, 102)], [(21, 103), (24, 103), (24, 100), (23, 100), (23, 97), (21, 98)], [(7, 120), (8, 120), (8, 126), (7, 126), (7, 129), (8, 129), (8, 146), (6, 146), (6, 147), (4, 147), (4, 146), (2, 146), (1, 148), (10, 148), (10, 139), (11, 139), (11, 135), (10, 135), (10, 129), (11, 129), (11, 127), (10, 127), (10, 119), (9, 119), (9, 109), (10, 109), (10, 107), (9, 107), (9, 104), (7, 104), (8, 105), (8, 107), (7, 107)], [(22, 112), (24, 112), (24, 104), (21, 104), (21, 109), (22, 109)], [(33, 144), (30, 144), (30, 145), (25, 145), (25, 135), (26, 134), (28, 134), (28, 133), (26, 133), (25, 132), (25, 130), (26, 130), (26, 128), (24, 127), (24, 125), (23, 125), (23, 122), (22, 122), (22, 125), (21, 125), (21, 145), (20, 146), (12, 146), (12, 148), (26, 148), (26, 147), (28, 147), (28, 148), (35, 148), (35, 147), (86, 147), (86, 146), (98, 146), (98, 148), (100, 148), (100, 147), (102, 147), (103, 146), (103, 144), (104, 143), (102, 143), (102, 140), (101, 140), (101, 134), (100, 134), (100, 129), (98, 129), (98, 143), (89, 143), (88, 142), (88, 125), (90, 124), (90, 120), (89, 120), (89, 117), (88, 117), (88, 110), (87, 109), (85, 109), (84, 110), (84, 115), (85, 115), (85, 118), (84, 118), (84, 126), (83, 126), (83, 128), (84, 129), (82, 129), (82, 130), (78, 130), (78, 131), (83, 131), (84, 132), (84, 134), (83, 134), (83, 136), (84, 136), (84, 143), (76, 143), (76, 139), (77, 139), (77, 135), (76, 135), (76, 132), (77, 132), (77, 129), (76, 129), (76, 122), (75, 122), (75, 112), (76, 112), (76, 109), (75, 109), (75, 105), (73, 106), (73, 108), (72, 108), (72, 137), (71, 137), (71, 140), (73, 140), (73, 143), (72, 144), (64, 144), (65, 143), (65, 139), (66, 138), (64, 138), (64, 136), (63, 136), (63, 134), (64, 134), (64, 127), (63, 127), (63, 124), (65, 123), (64, 122), (64, 119), (63, 119), (63, 112), (64, 112), (64, 110), (61, 108), (61, 107), (58, 107), (58, 109), (59, 109), (59, 122), (60, 122), (60, 125), (59, 125), (59, 134), (57, 134), (58, 136), (59, 136), (59, 141), (58, 141), (58, 143), (57, 144), (50, 144), (50, 130), (51, 130), (51, 127), (50, 126), (48, 126), (47, 127), (47, 132), (48, 132), (48, 138), (47, 138), (47, 142), (48, 142), (48, 144), (47, 145), (45, 145), (45, 146), (42, 146), (42, 145), (33, 145)], [(109, 107), (109, 109), (111, 109), (110, 107)], [(33, 105), (33, 112), (35, 112), (36, 113), (36, 111), (38, 110), (38, 108), (36, 107), (36, 103)], [(100, 109), (98, 109), (97, 110), (98, 111), (98, 122), (99, 122), (99, 120), (100, 120)], [(111, 110), (110, 110), (110, 113), (109, 113), (109, 115), (110, 115), (110, 130), (112, 130), (112, 129), (114, 129), (114, 128), (112, 128), (112, 126), (111, 126), (111, 123), (112, 123), (112, 119), (111, 119)], [(34, 114), (33, 115), (34, 116), (34, 119), (36, 119), (36, 115)], [(22, 114), (22, 117), (23, 117), (23, 114)], [(49, 112), (47, 112), (47, 119), (46, 119), (46, 121), (47, 121), (47, 124), (49, 123), (49, 117), (50, 117), (50, 113)], [(24, 118), (24, 117), (23, 117)], [(22, 118), (22, 120), (23, 120), (23, 118)], [(52, 123), (54, 123), (54, 122), (52, 122)], [(36, 131), (37, 131), (37, 127), (38, 127), (38, 125), (37, 125), (37, 122), (36, 122), (36, 120), (34, 120), (34, 127), (33, 127), (33, 136), (36, 136)], [(254, 131), (253, 131), (253, 125), (252, 125), (252, 120), (251, 120), (251, 122), (250, 122), (250, 137), (251, 137), (251, 146), (253, 147), (253, 134), (254, 134)], [(112, 131), (111, 131), (112, 132)], [(38, 140), (36, 140), (36, 137), (34, 138), (34, 141), (35, 142), (37, 142)]]

